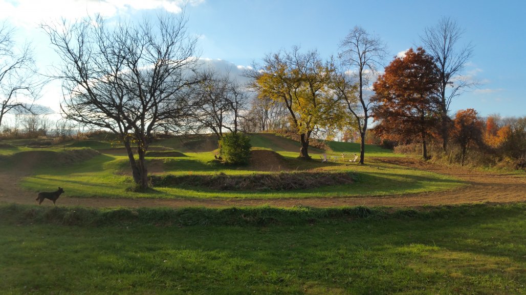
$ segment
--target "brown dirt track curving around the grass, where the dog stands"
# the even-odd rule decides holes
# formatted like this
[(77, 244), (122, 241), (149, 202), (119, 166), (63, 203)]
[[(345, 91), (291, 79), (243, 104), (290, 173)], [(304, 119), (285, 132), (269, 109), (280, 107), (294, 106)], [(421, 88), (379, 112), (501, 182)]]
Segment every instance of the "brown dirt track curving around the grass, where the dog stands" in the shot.
[[(498, 174), (471, 171), (460, 167), (444, 167), (419, 162), (410, 158), (385, 158), (382, 161), (419, 168), (440, 174), (460, 178), (467, 186), (447, 191), (367, 197), (335, 197), (335, 198), (279, 198), (279, 199), (108, 199), (108, 198), (76, 198), (61, 197), (57, 204), (62, 206), (83, 207), (231, 207), (271, 205), (279, 207), (311, 206), (393, 206), (414, 207), (422, 205), (446, 205), (467, 203), (508, 203), (526, 202), (526, 176), (524, 174)], [(18, 204), (36, 204), (36, 194), (19, 189), (18, 181), (22, 175), (16, 173), (0, 173), (0, 202)], [(53, 206), (47, 200), (43, 206)]]

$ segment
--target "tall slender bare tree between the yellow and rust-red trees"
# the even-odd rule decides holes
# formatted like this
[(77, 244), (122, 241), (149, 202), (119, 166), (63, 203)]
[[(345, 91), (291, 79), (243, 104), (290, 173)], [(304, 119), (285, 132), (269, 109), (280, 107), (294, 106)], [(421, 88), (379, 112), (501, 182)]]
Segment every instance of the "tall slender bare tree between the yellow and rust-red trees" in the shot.
[(340, 42), (339, 57), (348, 67), (358, 71), (358, 103), (348, 102), (349, 111), (355, 116), (360, 133), (360, 164), (365, 155), (365, 138), (370, 117), (370, 101), (363, 91), (370, 88), (370, 79), (376, 75), (376, 66), (387, 55), (387, 46), (376, 36), (361, 27), (354, 27)]

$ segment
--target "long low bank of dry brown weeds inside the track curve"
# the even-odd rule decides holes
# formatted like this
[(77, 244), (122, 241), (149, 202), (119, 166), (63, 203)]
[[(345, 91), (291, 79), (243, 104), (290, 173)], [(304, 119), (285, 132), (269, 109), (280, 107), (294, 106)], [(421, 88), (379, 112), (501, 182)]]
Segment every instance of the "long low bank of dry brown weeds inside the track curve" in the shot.
[(161, 175), (150, 176), (154, 186), (194, 186), (221, 191), (288, 191), (320, 186), (350, 184), (349, 173), (280, 172), (273, 174), (227, 175)]

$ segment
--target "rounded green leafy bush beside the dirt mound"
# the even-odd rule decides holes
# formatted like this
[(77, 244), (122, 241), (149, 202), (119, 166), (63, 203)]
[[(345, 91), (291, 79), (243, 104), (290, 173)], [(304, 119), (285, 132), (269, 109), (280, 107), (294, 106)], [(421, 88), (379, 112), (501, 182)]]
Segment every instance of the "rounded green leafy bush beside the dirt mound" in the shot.
[(247, 164), (251, 147), (248, 136), (240, 132), (227, 133), (219, 140), (219, 154), (228, 164)]

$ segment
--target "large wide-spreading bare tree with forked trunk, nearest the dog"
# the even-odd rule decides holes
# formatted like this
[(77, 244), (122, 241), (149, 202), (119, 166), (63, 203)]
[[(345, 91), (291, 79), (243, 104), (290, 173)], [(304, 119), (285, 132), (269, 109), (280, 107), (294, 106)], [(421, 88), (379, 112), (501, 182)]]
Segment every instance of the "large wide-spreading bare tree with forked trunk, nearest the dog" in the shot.
[(159, 15), (154, 23), (106, 25), (97, 16), (42, 25), (63, 63), (56, 78), (63, 81), (65, 118), (118, 134), (141, 189), (148, 187), (145, 154), (153, 132), (183, 117), (197, 60), (184, 14)]

